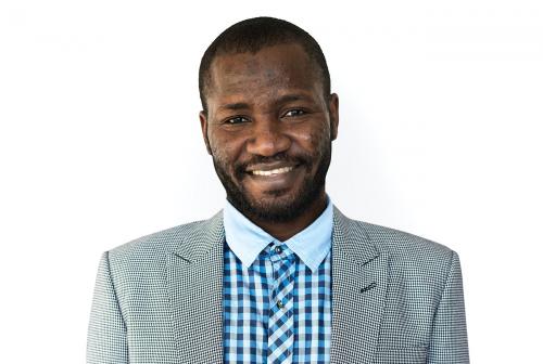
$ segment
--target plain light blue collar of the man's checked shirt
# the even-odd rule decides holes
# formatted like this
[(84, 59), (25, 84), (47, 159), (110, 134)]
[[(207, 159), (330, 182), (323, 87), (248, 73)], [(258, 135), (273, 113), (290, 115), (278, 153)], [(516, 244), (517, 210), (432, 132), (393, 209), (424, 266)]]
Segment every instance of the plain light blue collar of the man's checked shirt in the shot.
[(315, 273), (331, 246), (333, 205), (330, 198), (327, 199), (328, 204), (323, 213), (311, 225), (283, 243), (258, 227), (226, 202), (223, 214), (226, 243), (245, 268), (252, 265), (268, 244), (286, 244)]

